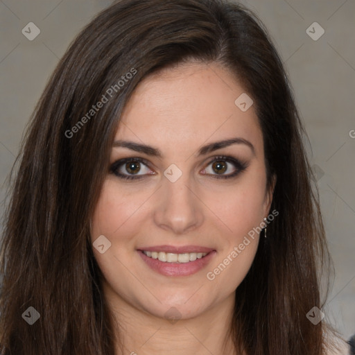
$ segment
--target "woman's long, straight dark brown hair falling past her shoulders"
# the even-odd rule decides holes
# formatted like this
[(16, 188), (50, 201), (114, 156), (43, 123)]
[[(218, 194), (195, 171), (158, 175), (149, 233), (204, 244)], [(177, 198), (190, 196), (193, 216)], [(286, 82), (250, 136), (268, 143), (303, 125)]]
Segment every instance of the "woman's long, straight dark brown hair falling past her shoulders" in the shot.
[[(11, 187), (1, 247), (1, 354), (114, 354), (89, 220), (135, 87), (149, 73), (189, 60), (218, 62), (240, 80), (257, 109), (269, 187), (277, 176), (271, 210), (279, 216), (236, 289), (236, 349), (323, 354), (324, 322), (314, 325), (306, 313), (322, 308), (318, 270), (329, 253), (302, 123), (259, 19), (218, 0), (118, 1), (60, 60), (31, 118)], [(33, 325), (22, 316), (30, 306), (40, 313)]]

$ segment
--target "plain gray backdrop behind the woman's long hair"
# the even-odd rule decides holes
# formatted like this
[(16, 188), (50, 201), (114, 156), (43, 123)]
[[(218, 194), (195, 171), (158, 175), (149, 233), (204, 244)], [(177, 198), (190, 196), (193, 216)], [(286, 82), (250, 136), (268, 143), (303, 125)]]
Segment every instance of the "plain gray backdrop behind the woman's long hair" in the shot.
[[(0, 0), (0, 214), (6, 178), (46, 80), (73, 37), (110, 0)], [(322, 310), (355, 333), (355, 1), (242, 1), (266, 24), (291, 78), (317, 173), (334, 285)], [(139, 15), (137, 15), (139, 16)], [(324, 28), (311, 26), (318, 22)], [(28, 40), (33, 22), (40, 35)], [(311, 26), (311, 27), (310, 27)], [(314, 27), (314, 28), (313, 28)], [(311, 34), (311, 33), (310, 33)]]

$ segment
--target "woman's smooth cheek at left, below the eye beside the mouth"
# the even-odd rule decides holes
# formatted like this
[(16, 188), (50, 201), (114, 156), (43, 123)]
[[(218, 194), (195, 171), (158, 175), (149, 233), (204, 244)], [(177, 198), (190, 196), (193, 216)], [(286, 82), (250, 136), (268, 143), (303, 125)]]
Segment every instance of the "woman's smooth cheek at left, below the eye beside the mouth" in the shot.
[(93, 248), (95, 259), (106, 282), (123, 296), (127, 292), (125, 287), (139, 287), (129, 266), (135, 264), (132, 250), (140, 230), (137, 218), (147, 199), (145, 195), (144, 192), (130, 194), (127, 189), (119, 188), (114, 179), (107, 178), (92, 217), (92, 243), (98, 236), (105, 236), (110, 241), (110, 248), (102, 254)]

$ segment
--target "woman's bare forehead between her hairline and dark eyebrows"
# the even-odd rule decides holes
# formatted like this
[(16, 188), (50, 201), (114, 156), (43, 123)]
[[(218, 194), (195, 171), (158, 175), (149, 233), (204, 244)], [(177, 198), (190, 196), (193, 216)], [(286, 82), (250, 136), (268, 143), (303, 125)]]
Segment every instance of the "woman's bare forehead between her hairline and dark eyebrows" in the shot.
[(115, 138), (181, 151), (238, 136), (253, 140), (258, 150), (262, 135), (254, 107), (243, 112), (235, 103), (242, 94), (236, 78), (215, 63), (164, 69), (139, 83)]

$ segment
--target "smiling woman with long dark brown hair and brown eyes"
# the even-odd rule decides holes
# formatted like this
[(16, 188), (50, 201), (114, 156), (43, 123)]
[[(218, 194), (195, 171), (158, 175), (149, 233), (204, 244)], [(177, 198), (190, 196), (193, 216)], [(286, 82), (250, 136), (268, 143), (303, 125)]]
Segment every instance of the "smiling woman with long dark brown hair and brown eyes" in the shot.
[(329, 255), (302, 132), (248, 10), (123, 0), (101, 12), (55, 69), (21, 150), (3, 354), (345, 347), (322, 320)]

